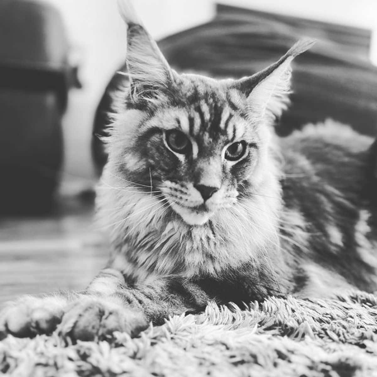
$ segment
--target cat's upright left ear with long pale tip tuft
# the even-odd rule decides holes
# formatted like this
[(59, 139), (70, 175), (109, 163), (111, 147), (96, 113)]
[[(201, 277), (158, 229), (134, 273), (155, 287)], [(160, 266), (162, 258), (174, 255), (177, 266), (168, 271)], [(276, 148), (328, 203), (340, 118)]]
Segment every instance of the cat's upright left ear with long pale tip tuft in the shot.
[(173, 72), (130, 0), (118, 0), (118, 8), (128, 26), (126, 64), (131, 99), (133, 102), (153, 102), (161, 91), (169, 90)]

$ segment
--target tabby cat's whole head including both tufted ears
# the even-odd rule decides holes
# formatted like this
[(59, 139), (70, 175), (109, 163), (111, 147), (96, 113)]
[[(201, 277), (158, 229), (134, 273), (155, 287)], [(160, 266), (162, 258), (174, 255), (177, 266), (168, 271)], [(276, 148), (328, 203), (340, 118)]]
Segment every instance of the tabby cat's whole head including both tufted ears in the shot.
[(109, 158), (145, 195), (149, 186), (183, 222), (203, 225), (269, 174), (271, 119), (288, 103), (290, 61), (308, 44), (252, 77), (216, 81), (178, 75), (145, 29), (126, 21), (130, 90)]

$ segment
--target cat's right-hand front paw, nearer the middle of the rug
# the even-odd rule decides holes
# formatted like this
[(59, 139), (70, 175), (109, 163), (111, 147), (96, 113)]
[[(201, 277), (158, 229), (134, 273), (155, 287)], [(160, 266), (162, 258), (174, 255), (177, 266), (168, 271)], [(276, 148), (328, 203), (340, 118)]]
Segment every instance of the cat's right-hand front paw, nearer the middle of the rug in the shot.
[(58, 331), (75, 342), (108, 339), (114, 331), (136, 336), (148, 325), (142, 311), (127, 308), (116, 297), (88, 296), (69, 305)]

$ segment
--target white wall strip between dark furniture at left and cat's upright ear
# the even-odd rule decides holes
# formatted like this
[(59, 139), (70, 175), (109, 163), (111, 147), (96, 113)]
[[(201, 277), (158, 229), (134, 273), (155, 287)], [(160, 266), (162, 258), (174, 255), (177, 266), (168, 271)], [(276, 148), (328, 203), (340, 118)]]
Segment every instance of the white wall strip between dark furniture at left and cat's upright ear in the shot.
[(83, 89), (69, 93), (63, 119), (63, 178), (91, 179), (90, 139), (95, 109), (126, 50), (126, 30), (109, 0), (45, 0), (60, 9)]

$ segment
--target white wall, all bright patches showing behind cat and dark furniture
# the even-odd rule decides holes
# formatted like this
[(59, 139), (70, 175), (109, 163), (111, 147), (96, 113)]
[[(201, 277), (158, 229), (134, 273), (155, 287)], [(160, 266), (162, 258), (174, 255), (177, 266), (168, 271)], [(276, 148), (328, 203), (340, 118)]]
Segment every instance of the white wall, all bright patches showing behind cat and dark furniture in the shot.
[[(94, 177), (90, 156), (93, 116), (113, 72), (123, 62), (126, 28), (116, 0), (43, 0), (60, 9), (70, 41), (81, 60), (82, 90), (72, 90), (64, 117), (65, 178)], [(377, 35), (377, 0), (222, 0), (231, 5), (373, 28)], [(133, 0), (155, 38), (210, 20), (214, 0)], [(373, 58), (377, 63), (377, 38)]]

